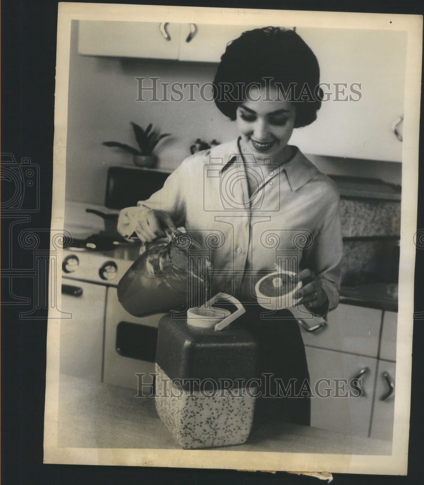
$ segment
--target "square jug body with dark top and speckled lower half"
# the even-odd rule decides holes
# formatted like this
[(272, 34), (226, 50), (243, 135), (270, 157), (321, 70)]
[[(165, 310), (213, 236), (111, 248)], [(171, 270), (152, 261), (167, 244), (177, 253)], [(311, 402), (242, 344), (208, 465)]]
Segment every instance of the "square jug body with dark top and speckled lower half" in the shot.
[(156, 349), (156, 411), (185, 449), (242, 444), (255, 410), (257, 345), (237, 321), (222, 331), (164, 316)]

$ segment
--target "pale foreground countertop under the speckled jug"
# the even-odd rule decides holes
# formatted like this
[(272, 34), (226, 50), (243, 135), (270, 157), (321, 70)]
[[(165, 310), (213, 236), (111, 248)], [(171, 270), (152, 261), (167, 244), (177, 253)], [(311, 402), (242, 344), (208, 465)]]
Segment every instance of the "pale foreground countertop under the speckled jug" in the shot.
[[(58, 446), (180, 449), (156, 414), (154, 398), (135, 397), (135, 393), (61, 374)], [(252, 432), (245, 444), (220, 449), (387, 455), (391, 454), (391, 442), (269, 421)]]

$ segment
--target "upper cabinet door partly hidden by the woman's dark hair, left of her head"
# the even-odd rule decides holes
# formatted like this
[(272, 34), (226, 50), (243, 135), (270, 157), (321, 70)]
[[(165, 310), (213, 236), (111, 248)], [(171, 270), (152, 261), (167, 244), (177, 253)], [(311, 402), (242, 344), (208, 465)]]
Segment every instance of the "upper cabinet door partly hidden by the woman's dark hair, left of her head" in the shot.
[(258, 27), (252, 25), (195, 25), (197, 31), (193, 38), (187, 42), (193, 24), (181, 24), (180, 61), (219, 63), (228, 42), (240, 37), (243, 32)]

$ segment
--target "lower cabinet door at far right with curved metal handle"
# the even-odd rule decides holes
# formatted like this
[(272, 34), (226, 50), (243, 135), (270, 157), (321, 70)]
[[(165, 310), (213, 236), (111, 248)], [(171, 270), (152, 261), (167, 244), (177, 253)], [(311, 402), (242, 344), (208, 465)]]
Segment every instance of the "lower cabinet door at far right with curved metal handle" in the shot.
[(371, 437), (391, 441), (394, 418), (394, 376), (396, 364), (387, 360), (378, 361), (377, 383)]

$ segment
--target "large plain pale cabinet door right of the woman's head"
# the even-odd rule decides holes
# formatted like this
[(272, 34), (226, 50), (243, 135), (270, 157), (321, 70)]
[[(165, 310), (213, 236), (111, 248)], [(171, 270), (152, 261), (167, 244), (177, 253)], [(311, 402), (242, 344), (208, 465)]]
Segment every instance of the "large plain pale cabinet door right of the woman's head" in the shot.
[(327, 100), (317, 120), (294, 130), (291, 143), (304, 153), (400, 162), (402, 143), (391, 127), (404, 112), (407, 33), (306, 28), (296, 32), (315, 53), (321, 82), (328, 85), (322, 86)]

